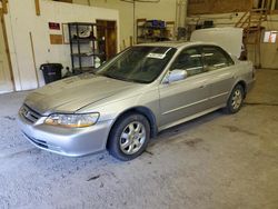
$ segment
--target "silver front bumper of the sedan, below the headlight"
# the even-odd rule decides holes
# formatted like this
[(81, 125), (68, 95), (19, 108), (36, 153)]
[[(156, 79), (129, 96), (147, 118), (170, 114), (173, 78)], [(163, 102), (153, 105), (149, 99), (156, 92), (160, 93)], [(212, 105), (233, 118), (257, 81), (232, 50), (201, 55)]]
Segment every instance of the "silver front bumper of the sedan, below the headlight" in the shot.
[(112, 120), (87, 128), (61, 128), (44, 125), (46, 117), (31, 122), (20, 112), (18, 123), (27, 139), (36, 147), (69, 157), (86, 156), (106, 149)]

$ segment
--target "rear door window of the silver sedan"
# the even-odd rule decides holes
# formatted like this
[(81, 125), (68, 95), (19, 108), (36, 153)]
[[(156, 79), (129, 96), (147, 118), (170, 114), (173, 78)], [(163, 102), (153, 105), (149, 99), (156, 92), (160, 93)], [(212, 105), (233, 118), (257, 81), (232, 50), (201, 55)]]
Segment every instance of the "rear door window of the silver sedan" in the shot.
[(206, 71), (212, 71), (234, 64), (234, 61), (221, 48), (203, 47), (203, 67)]

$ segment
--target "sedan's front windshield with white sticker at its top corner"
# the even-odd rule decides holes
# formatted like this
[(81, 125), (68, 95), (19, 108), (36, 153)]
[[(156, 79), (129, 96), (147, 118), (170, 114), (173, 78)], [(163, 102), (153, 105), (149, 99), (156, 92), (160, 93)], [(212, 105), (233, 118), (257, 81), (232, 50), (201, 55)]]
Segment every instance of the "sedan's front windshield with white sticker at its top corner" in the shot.
[(176, 51), (169, 47), (131, 47), (100, 67), (96, 73), (118, 80), (150, 83), (163, 71)]

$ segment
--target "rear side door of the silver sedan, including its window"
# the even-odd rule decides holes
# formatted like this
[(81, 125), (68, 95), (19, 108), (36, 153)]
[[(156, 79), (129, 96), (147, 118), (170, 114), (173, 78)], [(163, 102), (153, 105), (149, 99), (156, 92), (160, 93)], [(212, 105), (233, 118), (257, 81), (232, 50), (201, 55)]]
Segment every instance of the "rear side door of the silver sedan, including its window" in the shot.
[(208, 108), (222, 106), (234, 84), (235, 63), (225, 50), (216, 46), (203, 46), (202, 57), (209, 86)]

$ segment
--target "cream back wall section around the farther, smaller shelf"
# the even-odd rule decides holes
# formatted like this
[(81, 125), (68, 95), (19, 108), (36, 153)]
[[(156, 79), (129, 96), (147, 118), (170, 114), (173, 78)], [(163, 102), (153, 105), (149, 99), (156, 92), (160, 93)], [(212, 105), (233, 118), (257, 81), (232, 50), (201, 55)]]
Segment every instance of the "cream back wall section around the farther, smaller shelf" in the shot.
[[(88, 0), (73, 0), (75, 3), (88, 4)], [(90, 6), (110, 8), (119, 10), (120, 18), (120, 46), (122, 41), (129, 46), (129, 37), (133, 36), (133, 3), (120, 0), (89, 0)], [(160, 0), (159, 3), (136, 2), (135, 19), (161, 19), (165, 21), (176, 21), (176, 0)], [(136, 20), (135, 20), (136, 21)]]

